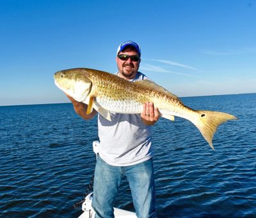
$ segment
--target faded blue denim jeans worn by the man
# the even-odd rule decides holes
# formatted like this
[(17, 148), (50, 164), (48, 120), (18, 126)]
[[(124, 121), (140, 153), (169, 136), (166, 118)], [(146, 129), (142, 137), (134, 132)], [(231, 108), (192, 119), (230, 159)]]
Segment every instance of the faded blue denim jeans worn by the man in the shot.
[(132, 166), (112, 166), (99, 156), (95, 166), (92, 207), (95, 218), (113, 218), (113, 203), (121, 184), (127, 177), (138, 218), (156, 217), (153, 161), (149, 159)]

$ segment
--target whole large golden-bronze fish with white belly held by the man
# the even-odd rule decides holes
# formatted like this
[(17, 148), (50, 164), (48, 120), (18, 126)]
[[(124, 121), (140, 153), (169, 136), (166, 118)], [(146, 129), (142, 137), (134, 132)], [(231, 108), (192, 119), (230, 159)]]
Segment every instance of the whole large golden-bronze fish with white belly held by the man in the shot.
[(95, 108), (108, 120), (111, 120), (109, 112), (141, 113), (144, 103), (153, 102), (166, 119), (174, 120), (177, 116), (190, 120), (212, 149), (212, 137), (217, 127), (227, 120), (236, 119), (228, 113), (188, 108), (177, 96), (149, 80), (129, 82), (111, 73), (86, 68), (58, 71), (54, 80), (62, 91), (86, 103), (88, 113)]

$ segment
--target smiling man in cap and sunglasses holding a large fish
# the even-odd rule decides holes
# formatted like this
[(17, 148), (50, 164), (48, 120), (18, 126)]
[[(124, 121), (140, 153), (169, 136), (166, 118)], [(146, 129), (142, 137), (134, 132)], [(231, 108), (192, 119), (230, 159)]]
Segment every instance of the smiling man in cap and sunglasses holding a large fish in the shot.
[[(121, 43), (117, 50), (117, 75), (131, 82), (147, 79), (138, 71), (140, 46), (134, 41)], [(74, 110), (84, 119), (92, 119), (95, 110), (86, 115), (87, 105), (68, 96)], [(136, 215), (156, 217), (154, 171), (151, 151), (151, 127), (160, 117), (153, 103), (145, 103), (141, 114), (113, 113), (111, 121), (98, 115), (99, 157), (95, 166), (92, 206), (95, 217), (113, 215), (113, 202), (122, 180), (129, 182)]]

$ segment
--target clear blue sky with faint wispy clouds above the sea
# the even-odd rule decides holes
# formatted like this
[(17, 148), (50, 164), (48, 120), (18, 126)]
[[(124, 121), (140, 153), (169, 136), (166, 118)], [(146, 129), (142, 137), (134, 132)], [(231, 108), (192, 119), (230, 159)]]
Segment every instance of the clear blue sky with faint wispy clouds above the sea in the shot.
[(122, 41), (177, 96), (256, 92), (256, 0), (0, 1), (0, 105), (69, 102), (61, 69), (115, 73)]

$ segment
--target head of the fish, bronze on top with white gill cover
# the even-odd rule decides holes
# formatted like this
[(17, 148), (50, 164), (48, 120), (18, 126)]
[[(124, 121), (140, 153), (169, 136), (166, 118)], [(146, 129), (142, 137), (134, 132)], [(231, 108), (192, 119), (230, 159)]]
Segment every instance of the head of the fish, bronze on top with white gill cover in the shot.
[(84, 101), (92, 89), (92, 81), (83, 70), (66, 69), (54, 73), (54, 82), (76, 101)]

